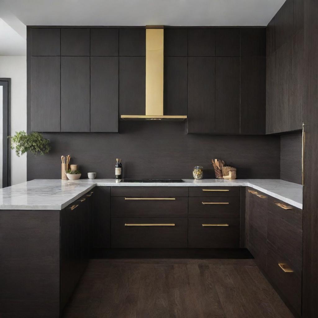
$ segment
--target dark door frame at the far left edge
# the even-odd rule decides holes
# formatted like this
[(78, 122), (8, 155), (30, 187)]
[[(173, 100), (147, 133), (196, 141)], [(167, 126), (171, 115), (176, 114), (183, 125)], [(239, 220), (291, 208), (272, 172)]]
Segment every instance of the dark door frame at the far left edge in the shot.
[(3, 86), (3, 141), (2, 141), (2, 187), (11, 185), (11, 164), (10, 164), (10, 78), (0, 78), (0, 86)]

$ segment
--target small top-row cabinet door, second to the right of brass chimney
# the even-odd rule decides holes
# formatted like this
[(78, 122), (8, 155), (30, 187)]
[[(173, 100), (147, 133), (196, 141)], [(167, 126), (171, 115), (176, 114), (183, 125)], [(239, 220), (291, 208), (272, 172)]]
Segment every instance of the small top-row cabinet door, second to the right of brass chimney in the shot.
[(189, 29), (188, 56), (215, 56), (215, 30)]

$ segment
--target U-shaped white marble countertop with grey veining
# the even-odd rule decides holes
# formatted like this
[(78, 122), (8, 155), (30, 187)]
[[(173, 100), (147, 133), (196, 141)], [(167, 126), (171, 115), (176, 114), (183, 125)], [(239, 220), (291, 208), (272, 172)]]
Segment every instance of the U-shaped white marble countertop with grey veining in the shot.
[(0, 189), (0, 210), (61, 210), (95, 186), (251, 187), (302, 209), (302, 186), (280, 179), (183, 179), (183, 183), (121, 183), (115, 179), (35, 179)]

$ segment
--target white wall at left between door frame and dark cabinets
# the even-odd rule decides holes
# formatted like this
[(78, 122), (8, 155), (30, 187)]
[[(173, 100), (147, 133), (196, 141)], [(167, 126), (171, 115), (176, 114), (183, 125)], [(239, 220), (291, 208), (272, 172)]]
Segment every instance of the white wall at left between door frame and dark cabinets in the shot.
[[(26, 56), (0, 56), (1, 77), (11, 79), (11, 135), (26, 131)], [(26, 154), (17, 157), (11, 150), (11, 185), (24, 181)]]

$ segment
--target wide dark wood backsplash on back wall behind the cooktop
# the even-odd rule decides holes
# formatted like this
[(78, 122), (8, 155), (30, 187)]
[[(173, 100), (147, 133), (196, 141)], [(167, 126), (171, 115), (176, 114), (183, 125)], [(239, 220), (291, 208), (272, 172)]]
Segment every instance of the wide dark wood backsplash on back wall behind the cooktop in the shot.
[(28, 154), (27, 179), (60, 178), (61, 155), (71, 155), (82, 178), (114, 178), (116, 158), (124, 177), (192, 178), (195, 165), (214, 178), (212, 158), (238, 168), (238, 178), (280, 178), (280, 137), (247, 135), (187, 135), (184, 122), (123, 122), (120, 134), (47, 133), (52, 150), (45, 156)]

